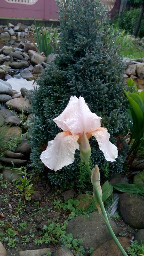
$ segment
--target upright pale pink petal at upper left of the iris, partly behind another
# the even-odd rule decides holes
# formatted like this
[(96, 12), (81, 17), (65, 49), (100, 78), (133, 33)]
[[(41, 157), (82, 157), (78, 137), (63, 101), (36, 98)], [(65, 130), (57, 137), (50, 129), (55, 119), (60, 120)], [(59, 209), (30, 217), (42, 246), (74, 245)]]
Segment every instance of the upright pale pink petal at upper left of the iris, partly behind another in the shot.
[(71, 96), (65, 110), (58, 117), (54, 118), (53, 121), (63, 131), (69, 131), (68, 127), (64, 122), (67, 119), (69, 119), (71, 116), (73, 116), (77, 112), (77, 109), (78, 109), (78, 98), (76, 96), (74, 97)]

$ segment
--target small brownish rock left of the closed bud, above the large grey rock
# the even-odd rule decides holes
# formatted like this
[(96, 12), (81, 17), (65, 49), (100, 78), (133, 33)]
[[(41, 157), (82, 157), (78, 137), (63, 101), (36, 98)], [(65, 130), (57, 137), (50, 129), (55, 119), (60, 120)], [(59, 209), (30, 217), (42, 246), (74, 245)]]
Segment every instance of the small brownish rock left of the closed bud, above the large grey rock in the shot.
[(78, 207), (82, 210), (85, 210), (88, 206), (90, 206), (93, 200), (93, 195), (80, 194), (76, 199), (80, 202)]

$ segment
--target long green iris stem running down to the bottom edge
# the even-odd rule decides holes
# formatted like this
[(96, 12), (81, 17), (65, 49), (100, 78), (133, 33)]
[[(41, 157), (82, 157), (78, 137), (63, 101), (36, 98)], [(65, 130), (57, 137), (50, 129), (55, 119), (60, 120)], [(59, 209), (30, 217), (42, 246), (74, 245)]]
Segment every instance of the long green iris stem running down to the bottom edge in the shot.
[[(87, 171), (89, 173), (89, 176), (91, 177), (91, 169), (90, 169), (89, 163), (85, 163), (85, 165), (86, 165)], [(100, 205), (100, 208), (101, 208), (101, 211), (102, 211), (102, 216), (101, 217), (104, 219), (104, 222), (105, 222), (105, 224), (107, 226), (107, 229), (108, 229), (110, 235), (112, 236), (114, 242), (116, 243), (117, 247), (121, 251), (122, 255), (123, 256), (128, 256), (127, 253), (125, 252), (125, 250), (123, 249), (122, 245), (118, 241), (118, 239), (117, 239), (115, 233), (113, 232), (112, 228), (111, 228), (111, 225), (109, 223), (109, 220), (108, 220), (108, 217), (107, 217), (107, 213), (105, 211), (102, 199), (101, 199), (101, 197), (99, 195), (98, 188), (94, 189), (94, 193), (95, 193), (95, 197), (97, 198), (97, 201), (98, 201), (98, 203)]]

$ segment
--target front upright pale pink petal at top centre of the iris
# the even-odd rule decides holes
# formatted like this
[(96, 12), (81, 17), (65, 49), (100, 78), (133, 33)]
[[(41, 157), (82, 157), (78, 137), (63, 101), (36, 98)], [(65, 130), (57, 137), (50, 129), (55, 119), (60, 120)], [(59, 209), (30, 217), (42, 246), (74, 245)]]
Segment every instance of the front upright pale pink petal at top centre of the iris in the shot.
[(92, 113), (83, 97), (78, 99), (77, 112), (69, 116), (64, 123), (72, 134), (83, 134), (97, 130), (100, 127), (101, 117)]

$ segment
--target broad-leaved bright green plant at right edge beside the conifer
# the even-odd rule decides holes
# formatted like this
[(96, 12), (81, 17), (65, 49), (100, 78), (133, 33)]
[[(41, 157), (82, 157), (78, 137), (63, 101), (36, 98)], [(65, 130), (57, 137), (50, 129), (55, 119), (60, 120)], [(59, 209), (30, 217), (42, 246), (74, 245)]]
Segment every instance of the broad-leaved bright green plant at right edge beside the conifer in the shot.
[(132, 93), (124, 91), (130, 104), (128, 117), (131, 150), (128, 159), (131, 166), (137, 152), (144, 150), (144, 90), (139, 93), (136, 84), (131, 78), (128, 80), (128, 86), (135, 89), (135, 92)]

